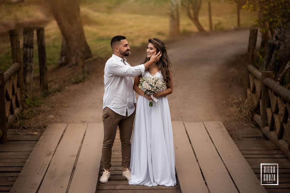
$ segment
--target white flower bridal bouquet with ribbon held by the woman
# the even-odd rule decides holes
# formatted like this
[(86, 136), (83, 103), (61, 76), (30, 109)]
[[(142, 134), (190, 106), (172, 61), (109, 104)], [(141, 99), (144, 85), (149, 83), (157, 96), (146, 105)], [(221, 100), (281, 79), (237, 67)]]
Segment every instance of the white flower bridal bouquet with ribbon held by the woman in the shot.
[[(142, 77), (140, 78), (140, 84), (138, 86), (144, 91), (144, 95), (151, 95), (151, 98), (155, 102), (158, 100), (153, 96), (153, 94), (166, 89), (166, 83), (162, 79), (156, 77)], [(152, 100), (150, 100), (149, 106), (153, 106)]]

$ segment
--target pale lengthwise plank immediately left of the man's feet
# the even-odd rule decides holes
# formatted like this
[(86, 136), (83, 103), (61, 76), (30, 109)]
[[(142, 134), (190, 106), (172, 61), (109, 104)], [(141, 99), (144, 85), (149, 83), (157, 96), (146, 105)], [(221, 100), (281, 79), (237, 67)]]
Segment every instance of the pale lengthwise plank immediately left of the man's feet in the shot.
[(103, 136), (102, 123), (88, 124), (69, 193), (95, 192), (101, 164)]

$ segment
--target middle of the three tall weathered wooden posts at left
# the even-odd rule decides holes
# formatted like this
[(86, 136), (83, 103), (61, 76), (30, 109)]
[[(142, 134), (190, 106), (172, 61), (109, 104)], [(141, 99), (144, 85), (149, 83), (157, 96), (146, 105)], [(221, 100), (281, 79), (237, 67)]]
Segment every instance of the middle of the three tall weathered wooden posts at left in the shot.
[(34, 28), (23, 29), (23, 78), (27, 95), (33, 98), (33, 38)]

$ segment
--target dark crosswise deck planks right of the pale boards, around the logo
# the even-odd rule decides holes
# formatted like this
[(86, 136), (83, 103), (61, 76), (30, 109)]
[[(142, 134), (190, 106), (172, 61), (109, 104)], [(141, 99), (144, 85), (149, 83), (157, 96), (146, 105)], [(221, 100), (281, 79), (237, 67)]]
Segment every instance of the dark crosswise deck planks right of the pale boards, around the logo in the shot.
[(278, 163), (279, 185), (264, 185), (267, 192), (290, 192), (290, 159), (272, 141), (262, 139), (262, 131), (240, 131), (234, 142), (259, 180), (260, 163)]

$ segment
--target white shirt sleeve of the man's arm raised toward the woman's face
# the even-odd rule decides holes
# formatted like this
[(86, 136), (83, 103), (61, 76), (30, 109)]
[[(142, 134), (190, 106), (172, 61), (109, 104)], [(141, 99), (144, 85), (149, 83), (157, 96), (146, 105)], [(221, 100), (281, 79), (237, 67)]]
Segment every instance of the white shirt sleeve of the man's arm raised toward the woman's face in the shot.
[(145, 71), (144, 64), (140, 64), (138, 66), (129, 66), (122, 64), (122, 62), (111, 61), (107, 65), (109, 72), (118, 76), (135, 77), (139, 76), (140, 74), (143, 75)]

